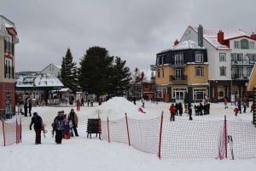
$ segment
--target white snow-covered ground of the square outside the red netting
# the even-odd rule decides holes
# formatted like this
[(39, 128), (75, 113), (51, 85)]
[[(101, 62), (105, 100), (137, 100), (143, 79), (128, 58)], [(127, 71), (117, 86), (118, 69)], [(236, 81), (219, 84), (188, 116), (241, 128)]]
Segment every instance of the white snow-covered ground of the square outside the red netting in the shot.
[[(61, 145), (55, 144), (55, 139), (50, 133), (50, 123), (52, 123), (57, 111), (64, 110), (68, 113), (75, 106), (38, 106), (33, 107), (32, 112), (37, 111), (43, 117), (48, 133), (46, 137), (42, 135), (42, 144), (35, 145), (35, 134), (29, 130), (31, 117), (21, 116), (22, 121), (22, 142), (17, 145), (0, 146), (0, 168), (4, 171), (254, 171), (256, 169), (256, 158), (247, 160), (173, 160), (159, 159), (154, 154), (137, 151), (132, 146), (99, 140), (96, 138), (87, 139), (86, 122), (87, 118), (97, 117), (102, 119), (115, 119), (125, 117), (146, 118), (164, 115), (169, 116), (170, 103), (159, 102), (158, 105), (145, 102), (145, 114), (137, 111), (142, 103), (137, 101), (133, 105), (124, 98), (113, 98), (98, 106), (82, 106), (77, 111), (79, 116), (79, 137), (70, 140), (63, 140)], [(247, 108), (247, 113), (234, 116), (234, 105), (229, 104), (229, 109), (224, 109), (223, 103), (211, 104), (211, 114), (206, 116), (194, 116), (193, 119), (216, 120), (243, 120), (252, 122), (252, 113)], [(194, 111), (193, 111), (194, 112)], [(187, 117), (187, 114), (183, 114)]]

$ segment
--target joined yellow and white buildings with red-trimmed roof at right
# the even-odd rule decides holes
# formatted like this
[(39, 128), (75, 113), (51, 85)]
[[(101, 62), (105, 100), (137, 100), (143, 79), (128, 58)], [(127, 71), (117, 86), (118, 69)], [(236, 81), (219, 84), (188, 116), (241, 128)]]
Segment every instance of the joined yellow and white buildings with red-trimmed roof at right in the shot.
[(156, 54), (158, 96), (165, 101), (248, 98), (256, 34), (189, 26), (172, 48)]

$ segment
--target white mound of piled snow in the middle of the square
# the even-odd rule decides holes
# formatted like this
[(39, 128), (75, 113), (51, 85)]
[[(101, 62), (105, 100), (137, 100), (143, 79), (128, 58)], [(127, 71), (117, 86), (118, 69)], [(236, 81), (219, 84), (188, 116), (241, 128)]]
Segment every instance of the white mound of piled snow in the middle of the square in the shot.
[(138, 111), (137, 105), (134, 105), (131, 101), (126, 100), (123, 97), (113, 97), (110, 100), (99, 105), (92, 114), (100, 115), (103, 120), (109, 119), (119, 119), (125, 117), (141, 115)]

